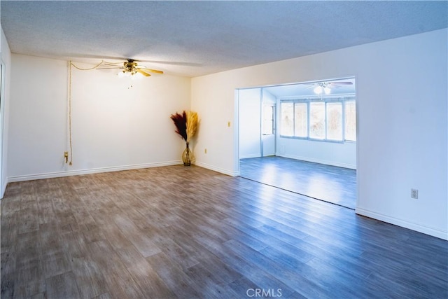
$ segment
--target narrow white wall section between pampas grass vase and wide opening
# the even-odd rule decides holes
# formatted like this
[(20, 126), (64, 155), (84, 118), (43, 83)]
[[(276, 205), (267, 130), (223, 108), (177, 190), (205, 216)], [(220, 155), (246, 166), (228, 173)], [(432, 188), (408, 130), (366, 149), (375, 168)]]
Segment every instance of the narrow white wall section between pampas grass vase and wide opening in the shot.
[[(217, 172), (239, 175), (238, 92), (239, 78), (232, 71), (192, 79), (191, 109), (200, 117), (196, 164)], [(241, 86), (238, 86), (241, 87)], [(230, 123), (230, 125), (229, 125)], [(207, 148), (207, 153), (204, 149)]]

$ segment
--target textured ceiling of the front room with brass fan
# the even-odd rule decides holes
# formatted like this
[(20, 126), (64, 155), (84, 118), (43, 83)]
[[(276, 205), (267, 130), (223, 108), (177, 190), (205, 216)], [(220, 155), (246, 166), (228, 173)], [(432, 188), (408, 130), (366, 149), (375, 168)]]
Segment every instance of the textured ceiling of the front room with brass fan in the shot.
[(447, 1), (1, 1), (13, 53), (200, 76), (448, 27)]

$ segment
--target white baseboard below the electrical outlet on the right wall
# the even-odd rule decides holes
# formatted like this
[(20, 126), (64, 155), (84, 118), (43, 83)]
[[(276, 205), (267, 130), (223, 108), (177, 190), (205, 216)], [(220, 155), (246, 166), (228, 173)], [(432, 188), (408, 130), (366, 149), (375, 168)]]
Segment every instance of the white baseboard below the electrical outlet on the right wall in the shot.
[(374, 218), (379, 221), (384, 221), (386, 223), (391, 223), (393, 225), (401, 226), (402, 228), (409, 228), (409, 230), (415, 230), (417, 232), (422, 232), (423, 234), (430, 235), (433, 237), (437, 237), (440, 239), (448, 240), (448, 231), (447, 230), (438, 230), (435, 228), (428, 228), (427, 226), (420, 225), (417, 223), (412, 223), (409, 221), (405, 221), (399, 218), (387, 216), (384, 214), (379, 214), (374, 211), (369, 211), (366, 209), (356, 208), (355, 209), (356, 214), (361, 216), (366, 216), (369, 218)]

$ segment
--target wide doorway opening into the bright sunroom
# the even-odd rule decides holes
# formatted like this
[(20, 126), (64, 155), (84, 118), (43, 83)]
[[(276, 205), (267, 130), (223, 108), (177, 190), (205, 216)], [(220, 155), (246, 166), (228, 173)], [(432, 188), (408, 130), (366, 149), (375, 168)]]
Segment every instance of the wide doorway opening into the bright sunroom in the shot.
[(354, 77), (238, 90), (240, 176), (356, 208)]

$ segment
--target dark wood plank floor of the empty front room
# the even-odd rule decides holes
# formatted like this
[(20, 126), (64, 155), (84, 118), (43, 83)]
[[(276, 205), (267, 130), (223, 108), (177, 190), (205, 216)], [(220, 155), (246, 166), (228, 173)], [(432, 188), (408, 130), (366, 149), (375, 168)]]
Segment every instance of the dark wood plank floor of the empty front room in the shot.
[(1, 298), (447, 298), (447, 245), (195, 166), (25, 181)]

